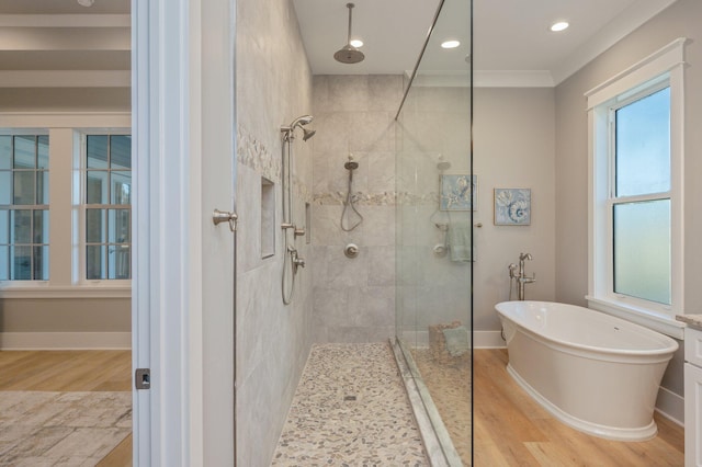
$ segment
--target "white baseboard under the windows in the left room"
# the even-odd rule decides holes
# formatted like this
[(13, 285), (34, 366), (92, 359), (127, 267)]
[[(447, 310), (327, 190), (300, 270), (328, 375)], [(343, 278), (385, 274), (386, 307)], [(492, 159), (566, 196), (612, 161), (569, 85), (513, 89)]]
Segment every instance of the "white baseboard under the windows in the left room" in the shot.
[(128, 350), (131, 332), (0, 332), (0, 350)]

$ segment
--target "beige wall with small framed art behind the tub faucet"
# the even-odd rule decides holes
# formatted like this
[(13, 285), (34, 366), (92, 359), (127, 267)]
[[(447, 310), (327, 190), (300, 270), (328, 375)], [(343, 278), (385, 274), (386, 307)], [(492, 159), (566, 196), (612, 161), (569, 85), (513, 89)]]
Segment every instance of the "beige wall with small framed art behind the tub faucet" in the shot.
[[(499, 331), (495, 304), (509, 298), (508, 265), (531, 253), (525, 297), (553, 300), (555, 286), (555, 102), (551, 88), (474, 90), (474, 171), (478, 175), (475, 219), (476, 331)], [(494, 189), (531, 189), (531, 225), (495, 226)], [(512, 296), (514, 298), (514, 296)]]

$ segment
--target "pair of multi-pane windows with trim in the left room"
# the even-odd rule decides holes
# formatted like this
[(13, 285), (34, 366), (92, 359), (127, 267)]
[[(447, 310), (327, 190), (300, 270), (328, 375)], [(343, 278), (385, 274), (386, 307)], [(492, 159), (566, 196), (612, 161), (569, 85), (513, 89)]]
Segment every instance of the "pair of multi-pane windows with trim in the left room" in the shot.
[(0, 112), (0, 300), (131, 296), (129, 126)]

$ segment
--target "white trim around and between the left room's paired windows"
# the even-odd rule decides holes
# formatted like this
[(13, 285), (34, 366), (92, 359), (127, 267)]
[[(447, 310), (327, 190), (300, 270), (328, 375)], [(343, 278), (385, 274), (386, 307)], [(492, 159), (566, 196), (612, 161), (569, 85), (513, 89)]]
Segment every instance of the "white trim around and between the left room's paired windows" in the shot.
[[(4, 134), (49, 134), (55, 129), (68, 129), (80, 133), (98, 132), (126, 132), (132, 133), (132, 116), (129, 112), (0, 112), (0, 128), (5, 128)], [(38, 132), (38, 133), (37, 133)], [(50, 150), (50, 148), (49, 148)], [(49, 160), (49, 174), (56, 173), (52, 168), (53, 158)], [(70, 161), (72, 161), (72, 155)], [(65, 168), (64, 171), (75, 171), (75, 164)], [(49, 175), (50, 176), (50, 175)], [(68, 190), (72, 193), (75, 179), (67, 179), (67, 186), (60, 190)], [(61, 216), (72, 218), (77, 208), (72, 197), (61, 201), (55, 200), (55, 186), (49, 179), (49, 213), (61, 210)], [(49, 214), (50, 215), (50, 214)], [(72, 223), (72, 221), (71, 221)], [(52, 223), (52, 230), (54, 228)], [(132, 296), (132, 281), (76, 281), (71, 270), (61, 270), (56, 273), (54, 270), (53, 249), (70, 249), (67, 253), (72, 263), (72, 241), (69, 243), (56, 244), (56, 236), (49, 230), (49, 280), (48, 281), (0, 281), (0, 298), (129, 298)], [(73, 238), (73, 234), (68, 235)]]

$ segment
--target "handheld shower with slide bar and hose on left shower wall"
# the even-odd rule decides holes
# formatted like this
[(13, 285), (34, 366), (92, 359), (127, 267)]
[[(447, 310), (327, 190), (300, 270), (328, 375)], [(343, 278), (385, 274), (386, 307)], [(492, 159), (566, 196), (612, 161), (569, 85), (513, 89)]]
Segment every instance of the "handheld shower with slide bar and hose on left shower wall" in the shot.
[(283, 201), (283, 273), (281, 275), (281, 293), (283, 303), (290, 305), (295, 292), (295, 276), (297, 270), (305, 266), (305, 260), (299, 257), (295, 247), (295, 239), (305, 235), (305, 228), (299, 228), (295, 224), (293, 215), (293, 141), (295, 140), (295, 129), (303, 132), (303, 141), (315, 135), (314, 129), (305, 128), (310, 124), (312, 115), (302, 115), (295, 118), (290, 125), (281, 126), (281, 180)]

